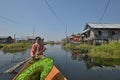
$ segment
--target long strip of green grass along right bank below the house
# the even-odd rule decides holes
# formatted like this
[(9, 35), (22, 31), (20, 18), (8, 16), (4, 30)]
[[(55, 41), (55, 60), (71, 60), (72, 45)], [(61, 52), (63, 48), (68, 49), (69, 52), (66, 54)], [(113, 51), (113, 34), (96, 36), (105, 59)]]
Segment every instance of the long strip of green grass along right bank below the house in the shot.
[(102, 44), (100, 46), (68, 43), (65, 45), (65, 48), (70, 51), (79, 50), (81, 53), (87, 53), (91, 57), (120, 59), (120, 41), (111, 41), (109, 44)]

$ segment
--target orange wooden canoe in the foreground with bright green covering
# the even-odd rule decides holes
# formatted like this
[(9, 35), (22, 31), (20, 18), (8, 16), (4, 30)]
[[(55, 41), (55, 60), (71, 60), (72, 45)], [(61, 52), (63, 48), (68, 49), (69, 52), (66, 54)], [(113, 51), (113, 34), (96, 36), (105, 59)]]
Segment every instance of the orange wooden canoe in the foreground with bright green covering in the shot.
[(44, 57), (23, 66), (12, 80), (67, 80), (54, 65), (52, 58)]

